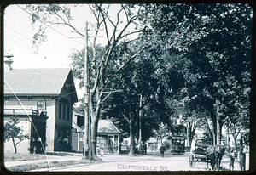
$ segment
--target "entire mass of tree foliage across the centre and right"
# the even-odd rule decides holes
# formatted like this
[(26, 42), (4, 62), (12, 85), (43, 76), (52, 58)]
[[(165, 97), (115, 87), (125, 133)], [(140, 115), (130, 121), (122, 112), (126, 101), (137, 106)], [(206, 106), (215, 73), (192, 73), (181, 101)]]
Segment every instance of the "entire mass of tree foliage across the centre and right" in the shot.
[[(137, 135), (142, 109), (145, 138), (152, 134), (150, 125), (158, 130), (164, 124), (175, 133), (181, 114), (189, 126), (190, 141), (199, 127), (212, 139), (221, 132), (217, 124), (229, 127), (235, 136), (248, 128), (252, 8), (247, 4), (119, 4), (115, 18), (109, 15), (110, 4), (89, 7), (96, 29), (104, 28), (107, 41), (106, 46), (98, 46), (95, 39), (89, 48), (95, 128), (101, 111), (125, 133), (131, 133), (131, 127)], [(68, 6), (28, 8), (33, 12), (32, 23), (39, 18), (76, 29)], [(127, 30), (131, 25), (134, 31)], [(42, 28), (37, 34), (35, 39), (44, 41)], [(132, 38), (134, 34), (137, 37)], [(73, 53), (72, 58), (74, 75), (83, 86), (84, 51)], [(116, 89), (123, 92), (111, 93)]]

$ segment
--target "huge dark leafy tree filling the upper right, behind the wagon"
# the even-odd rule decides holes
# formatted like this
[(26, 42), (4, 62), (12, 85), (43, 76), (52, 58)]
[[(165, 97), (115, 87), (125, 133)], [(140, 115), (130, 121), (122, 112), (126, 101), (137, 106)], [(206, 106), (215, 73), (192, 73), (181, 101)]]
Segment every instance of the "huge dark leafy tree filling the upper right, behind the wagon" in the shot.
[[(177, 67), (177, 71), (172, 78), (166, 78), (167, 63), (160, 64), (161, 79), (170, 81), (166, 84), (172, 91), (186, 89), (186, 105), (191, 109), (199, 105), (209, 112), (214, 144), (220, 144), (225, 117), (221, 115), (221, 106), (227, 103), (222, 91), (230, 91), (232, 78), (237, 81), (236, 88), (241, 89), (236, 96), (242, 96), (244, 86), (249, 87), (249, 82), (241, 80), (250, 76), (252, 8), (247, 4), (198, 3), (147, 4), (145, 10), (145, 14), (150, 14), (143, 19), (148, 25), (149, 42), (154, 42), (161, 56), (182, 55), (177, 59), (186, 58), (185, 63), (189, 64), (174, 64), (170, 70)], [(183, 54), (177, 54), (178, 51)], [(172, 59), (172, 63), (177, 59)], [(177, 72), (181, 74), (177, 76)]]

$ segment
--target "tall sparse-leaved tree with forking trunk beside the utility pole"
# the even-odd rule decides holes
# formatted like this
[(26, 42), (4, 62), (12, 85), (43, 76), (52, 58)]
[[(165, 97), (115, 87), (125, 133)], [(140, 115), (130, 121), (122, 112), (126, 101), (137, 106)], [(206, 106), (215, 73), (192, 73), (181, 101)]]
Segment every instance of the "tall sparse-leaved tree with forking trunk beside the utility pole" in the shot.
[[(115, 49), (120, 42), (129, 41), (129, 37), (137, 34), (140, 30), (134, 29), (134, 21), (137, 20), (140, 8), (134, 8), (132, 4), (88, 4), (90, 12), (94, 15), (94, 22), (96, 25), (94, 30), (103, 29), (106, 39), (106, 45), (102, 46), (101, 52), (96, 50), (96, 41), (99, 31), (94, 33), (94, 39), (91, 41), (92, 55), (89, 58), (90, 62), (90, 116), (91, 116), (91, 138), (92, 138), (92, 158), (96, 156), (96, 137), (97, 126), (102, 109), (102, 99), (104, 99), (105, 92), (109, 92), (112, 82), (112, 76), (118, 75), (125, 65), (132, 59), (135, 59), (142, 50), (137, 50), (137, 53), (131, 55), (123, 65), (117, 64), (113, 56), (118, 49)], [(73, 7), (75, 9), (75, 6)], [(72, 8), (69, 5), (60, 4), (38, 4), (28, 5), (27, 9), (32, 12), (32, 23), (37, 23), (38, 20), (43, 21), (49, 25), (65, 25), (71, 30), (76, 31), (81, 37), (84, 34), (73, 26)], [(111, 12), (111, 15), (110, 15)], [(113, 15), (115, 12), (115, 15)], [(133, 28), (131, 28), (133, 25)], [(129, 29), (130, 27), (130, 29)], [(128, 31), (131, 30), (131, 31)], [(45, 29), (43, 25), (39, 25), (38, 33), (35, 34), (35, 43), (44, 41)], [(84, 59), (77, 58), (77, 59)], [(108, 67), (111, 66), (111, 70)], [(83, 73), (83, 67), (75, 68), (74, 71)], [(75, 73), (76, 74), (76, 73)], [(84, 76), (80, 76), (81, 86), (84, 86)]]

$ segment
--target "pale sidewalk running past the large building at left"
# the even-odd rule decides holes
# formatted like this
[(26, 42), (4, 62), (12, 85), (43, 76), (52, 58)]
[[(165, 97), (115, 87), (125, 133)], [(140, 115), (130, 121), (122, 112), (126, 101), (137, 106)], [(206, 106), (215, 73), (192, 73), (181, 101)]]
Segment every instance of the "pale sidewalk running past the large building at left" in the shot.
[[(49, 162), (52, 161), (79, 161), (82, 160), (83, 155), (82, 153), (70, 153), (70, 152), (47, 152), (47, 159)], [(42, 160), (32, 160), (32, 161), (5, 161), (4, 166), (8, 167), (15, 167), (15, 166), (22, 166), (26, 164), (37, 164), (47, 162), (46, 158)]]

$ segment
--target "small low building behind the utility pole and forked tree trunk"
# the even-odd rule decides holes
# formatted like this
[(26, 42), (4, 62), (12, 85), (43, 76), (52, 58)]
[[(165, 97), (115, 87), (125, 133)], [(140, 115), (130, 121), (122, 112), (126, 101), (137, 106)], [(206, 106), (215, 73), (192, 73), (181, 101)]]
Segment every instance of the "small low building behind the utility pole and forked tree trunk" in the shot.
[[(75, 151), (82, 152), (84, 146), (84, 125), (81, 123), (84, 123), (84, 121), (80, 121), (78, 116), (82, 117), (83, 112), (77, 109), (74, 111), (72, 148)], [(119, 154), (120, 135), (121, 132), (114, 126), (112, 121), (100, 119), (97, 132), (97, 147), (103, 148), (104, 153), (107, 154)]]

